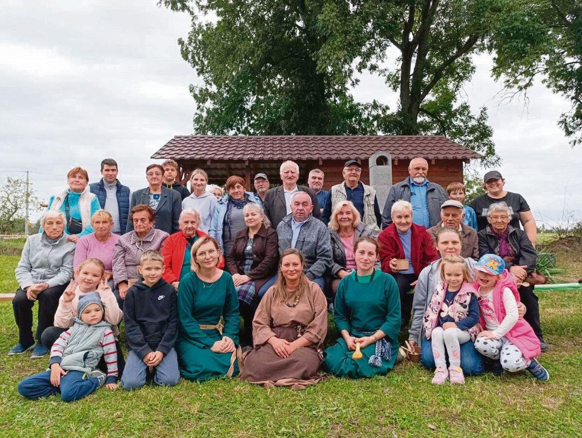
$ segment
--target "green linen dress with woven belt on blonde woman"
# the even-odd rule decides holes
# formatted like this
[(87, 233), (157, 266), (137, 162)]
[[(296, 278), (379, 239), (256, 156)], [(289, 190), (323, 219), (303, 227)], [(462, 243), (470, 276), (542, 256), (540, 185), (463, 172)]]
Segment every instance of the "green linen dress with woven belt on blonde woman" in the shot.
[[(200, 325), (216, 325), (224, 318), (223, 336), (239, 343), (239, 299), (228, 272), (214, 283), (203, 282), (196, 272), (187, 273), (178, 286), (178, 320), (176, 340), (178, 365), (184, 379), (203, 381), (226, 375), (232, 353), (217, 353), (210, 347), (222, 339), (216, 329), (203, 330)], [(239, 373), (235, 361), (233, 376)]]

